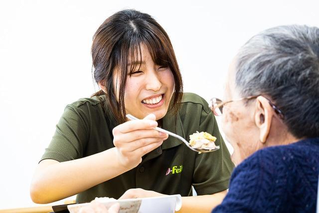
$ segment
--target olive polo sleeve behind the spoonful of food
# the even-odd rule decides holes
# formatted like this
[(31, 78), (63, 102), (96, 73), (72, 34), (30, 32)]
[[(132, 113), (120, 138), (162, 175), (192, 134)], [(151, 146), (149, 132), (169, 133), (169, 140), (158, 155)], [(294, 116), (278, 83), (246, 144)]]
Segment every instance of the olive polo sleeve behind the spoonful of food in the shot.
[(215, 144), (219, 145), (220, 149), (196, 154), (193, 187), (197, 195), (210, 195), (227, 190), (234, 164), (211, 111), (206, 113), (202, 110), (199, 132), (208, 132), (215, 136)]

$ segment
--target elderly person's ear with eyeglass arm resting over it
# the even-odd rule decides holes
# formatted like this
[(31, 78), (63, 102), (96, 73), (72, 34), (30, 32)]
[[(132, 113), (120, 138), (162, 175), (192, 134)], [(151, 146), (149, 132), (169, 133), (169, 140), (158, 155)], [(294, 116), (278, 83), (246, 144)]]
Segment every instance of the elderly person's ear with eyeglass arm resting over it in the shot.
[(269, 101), (263, 96), (256, 98), (255, 108), (255, 124), (259, 128), (259, 140), (265, 143), (270, 131), (273, 109)]

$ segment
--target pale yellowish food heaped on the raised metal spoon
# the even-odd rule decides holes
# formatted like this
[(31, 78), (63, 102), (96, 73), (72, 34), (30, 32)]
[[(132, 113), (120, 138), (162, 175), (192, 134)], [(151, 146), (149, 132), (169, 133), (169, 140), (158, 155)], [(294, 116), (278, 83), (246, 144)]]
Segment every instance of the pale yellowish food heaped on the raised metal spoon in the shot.
[(216, 145), (214, 143), (216, 141), (216, 137), (207, 132), (196, 131), (196, 133), (190, 135), (189, 138), (189, 145), (194, 149), (216, 149)]

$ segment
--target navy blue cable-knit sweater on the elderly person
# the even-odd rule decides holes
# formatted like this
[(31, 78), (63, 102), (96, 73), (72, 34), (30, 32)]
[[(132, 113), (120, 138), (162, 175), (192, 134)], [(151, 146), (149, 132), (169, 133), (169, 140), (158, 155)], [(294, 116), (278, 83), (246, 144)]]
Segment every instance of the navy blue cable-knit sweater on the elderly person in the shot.
[(233, 171), (212, 213), (316, 212), (319, 138), (257, 151)]

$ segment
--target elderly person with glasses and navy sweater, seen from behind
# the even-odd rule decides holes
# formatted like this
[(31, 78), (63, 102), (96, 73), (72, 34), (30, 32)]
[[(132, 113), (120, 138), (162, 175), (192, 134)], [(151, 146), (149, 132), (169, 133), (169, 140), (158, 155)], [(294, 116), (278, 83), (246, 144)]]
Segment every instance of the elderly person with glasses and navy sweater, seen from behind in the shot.
[(315, 212), (319, 173), (319, 28), (252, 37), (230, 65), (222, 114), (234, 147), (229, 192), (213, 213)]

